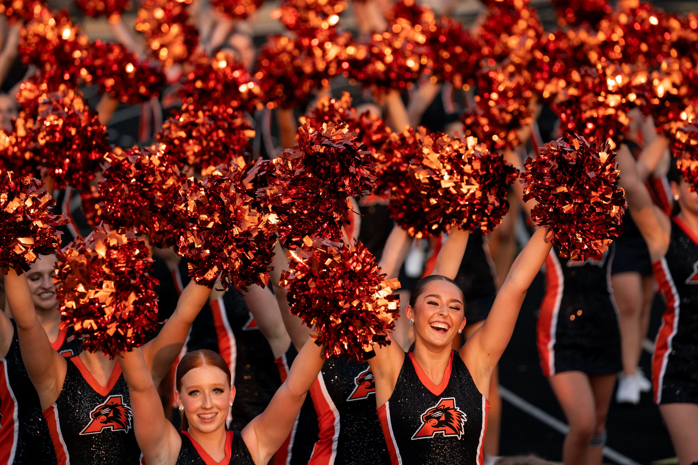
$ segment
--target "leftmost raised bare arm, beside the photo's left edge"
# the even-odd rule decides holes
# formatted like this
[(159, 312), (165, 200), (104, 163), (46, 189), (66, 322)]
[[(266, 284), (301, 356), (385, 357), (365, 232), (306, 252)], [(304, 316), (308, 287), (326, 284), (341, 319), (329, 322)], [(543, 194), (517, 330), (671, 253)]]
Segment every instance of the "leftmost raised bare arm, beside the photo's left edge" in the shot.
[(41, 408), (47, 408), (58, 399), (58, 394), (63, 388), (66, 360), (53, 350), (36, 316), (27, 275), (17, 275), (17, 272), (10, 268), (5, 275), (5, 293), (17, 323), (22, 361), (27, 367), (31, 383), (39, 394)]

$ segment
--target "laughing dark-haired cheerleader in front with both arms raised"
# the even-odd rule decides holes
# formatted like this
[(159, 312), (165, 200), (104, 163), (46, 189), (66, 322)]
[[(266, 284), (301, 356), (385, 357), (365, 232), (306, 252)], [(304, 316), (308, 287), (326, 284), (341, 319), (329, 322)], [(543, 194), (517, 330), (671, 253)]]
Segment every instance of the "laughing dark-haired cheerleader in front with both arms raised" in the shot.
[[(467, 237), (468, 232), (451, 233), (435, 273), (456, 274)], [(514, 260), (487, 319), (458, 352), (451, 348), (466, 325), (463, 293), (442, 274), (417, 281), (406, 307), (414, 349), (404, 353), (393, 341), (374, 346), (376, 356), (369, 360), (392, 464), (484, 463), (491, 374), (550, 249), (544, 230), (535, 232)]]

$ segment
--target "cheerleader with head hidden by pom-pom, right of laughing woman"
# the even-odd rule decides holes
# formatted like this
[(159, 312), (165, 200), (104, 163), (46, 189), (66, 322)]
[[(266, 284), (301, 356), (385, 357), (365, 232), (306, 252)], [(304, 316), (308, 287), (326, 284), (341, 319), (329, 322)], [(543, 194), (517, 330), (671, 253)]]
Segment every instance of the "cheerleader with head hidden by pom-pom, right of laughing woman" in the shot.
[(621, 334), (613, 293), (613, 247), (584, 262), (545, 261), (547, 289), (537, 323), (544, 376), (565, 412), (570, 431), (563, 462), (601, 464), (606, 417), (621, 370)]

